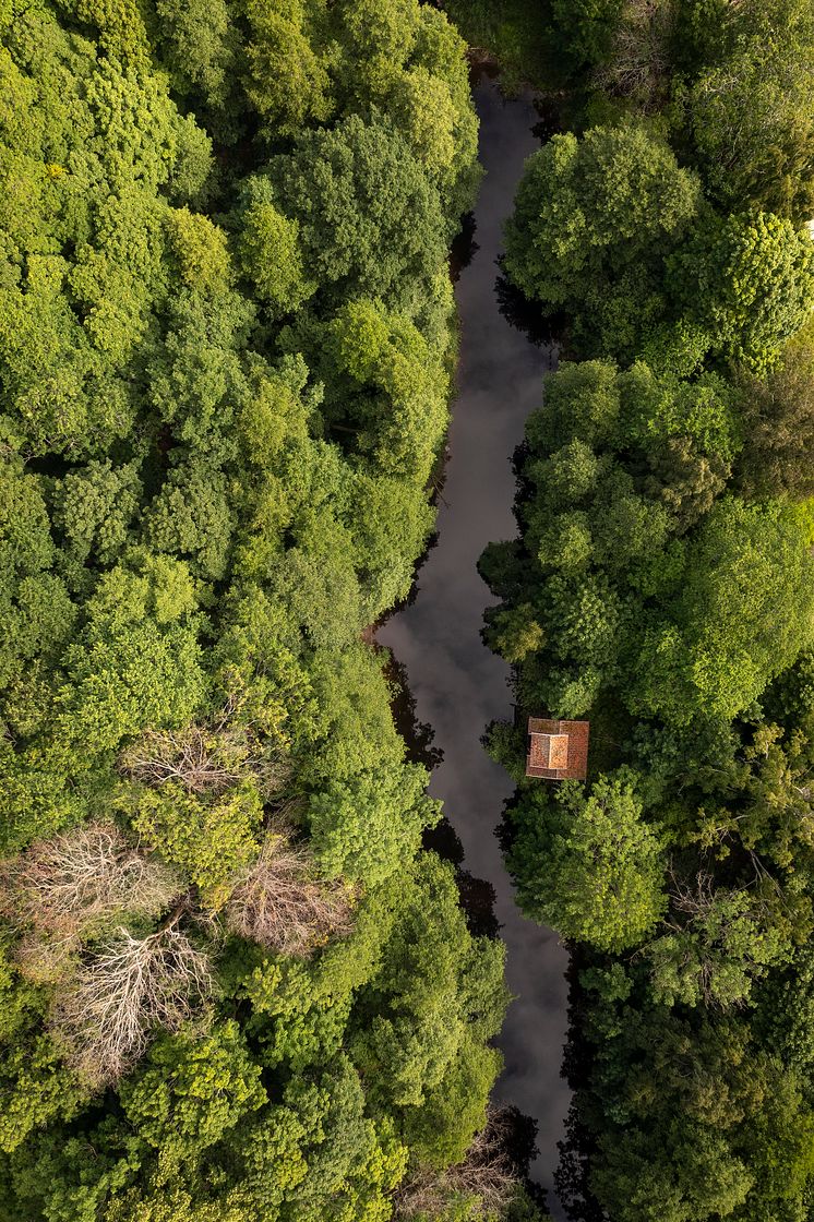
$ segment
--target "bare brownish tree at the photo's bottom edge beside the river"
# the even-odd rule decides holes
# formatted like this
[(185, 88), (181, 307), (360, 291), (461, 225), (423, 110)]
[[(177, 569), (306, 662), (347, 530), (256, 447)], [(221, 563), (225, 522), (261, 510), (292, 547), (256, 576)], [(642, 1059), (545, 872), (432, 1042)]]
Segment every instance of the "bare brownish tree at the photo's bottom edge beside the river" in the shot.
[(491, 1108), (462, 1163), (447, 1171), (419, 1169), (398, 1190), (396, 1217), (442, 1213), (456, 1198), (477, 1198), (474, 1217), (504, 1213), (519, 1188), (508, 1156), (508, 1113)]

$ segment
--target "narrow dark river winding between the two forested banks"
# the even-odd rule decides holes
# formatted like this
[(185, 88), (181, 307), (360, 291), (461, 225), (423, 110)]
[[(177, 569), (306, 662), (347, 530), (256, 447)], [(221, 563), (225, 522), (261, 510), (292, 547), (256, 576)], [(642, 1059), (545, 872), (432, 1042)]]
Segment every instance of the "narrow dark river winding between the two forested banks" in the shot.
[(475, 249), (456, 295), (461, 318), (458, 395), (450, 462), (438, 518), (439, 540), (418, 574), (414, 600), (379, 631), (406, 670), (419, 721), (444, 753), (430, 793), (445, 803), (464, 849), (464, 868), (495, 891), (495, 915), (507, 947), (511, 1004), (500, 1046), (506, 1068), (496, 1099), (538, 1123), (540, 1154), (532, 1174), (549, 1189), (550, 1209), (568, 1090), (560, 1077), (567, 1028), (567, 956), (550, 930), (526, 920), (515, 904), (495, 827), (512, 791), (510, 778), (480, 745), (489, 721), (511, 716), (508, 667), (480, 640), (483, 610), (494, 601), (475, 562), (490, 540), (516, 535), (511, 456), (523, 423), (539, 407), (552, 352), (537, 347), (499, 309), (495, 260), (524, 159), (539, 147), (529, 99), (504, 101), (494, 83), (475, 87), (480, 159), (486, 169), (475, 208)]

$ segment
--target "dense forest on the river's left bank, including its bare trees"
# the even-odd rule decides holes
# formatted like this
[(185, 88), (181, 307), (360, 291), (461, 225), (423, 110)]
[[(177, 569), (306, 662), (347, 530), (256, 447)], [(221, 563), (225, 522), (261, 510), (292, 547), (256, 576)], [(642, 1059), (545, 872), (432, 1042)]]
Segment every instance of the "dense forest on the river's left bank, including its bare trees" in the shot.
[(0, 4), (0, 1217), (538, 1217), (370, 626), (479, 181), (418, 0)]

